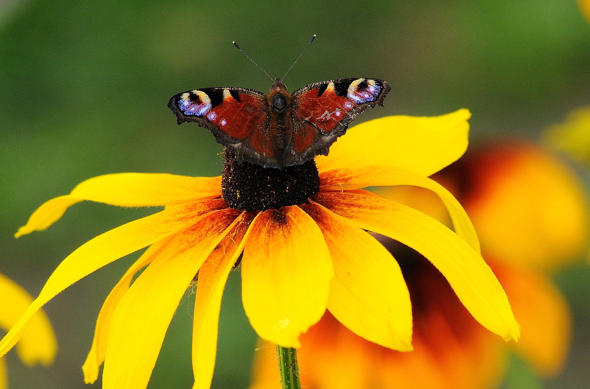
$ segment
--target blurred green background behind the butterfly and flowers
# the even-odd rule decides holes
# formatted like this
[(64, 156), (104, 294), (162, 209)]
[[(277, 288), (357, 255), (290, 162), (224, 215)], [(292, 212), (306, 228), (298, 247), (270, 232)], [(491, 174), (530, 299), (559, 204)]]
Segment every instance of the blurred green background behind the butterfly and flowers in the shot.
[[(12, 234), (42, 202), (89, 177), (124, 171), (212, 176), (221, 147), (205, 129), (176, 125), (170, 96), (209, 86), (267, 92), (291, 70), (290, 90), (340, 77), (392, 86), (391, 114), (439, 115), (469, 108), (474, 142), (536, 138), (590, 104), (590, 25), (574, 0), (391, 2), (0, 2), (0, 272), (36, 295), (55, 266), (93, 236), (148, 215), (83, 203), (50, 230)], [(46, 307), (60, 352), (51, 368), (8, 355), (11, 388), (86, 388), (81, 364), (101, 303), (133, 258), (69, 288)], [(513, 359), (506, 387), (590, 388), (590, 271), (556, 275), (572, 304), (571, 356), (559, 377), (539, 381)], [(232, 274), (220, 324), (214, 388), (248, 385), (255, 335)], [(178, 309), (150, 388), (189, 388), (191, 293)], [(1, 298), (1, 297), (0, 297)], [(93, 387), (100, 387), (94, 384)]]

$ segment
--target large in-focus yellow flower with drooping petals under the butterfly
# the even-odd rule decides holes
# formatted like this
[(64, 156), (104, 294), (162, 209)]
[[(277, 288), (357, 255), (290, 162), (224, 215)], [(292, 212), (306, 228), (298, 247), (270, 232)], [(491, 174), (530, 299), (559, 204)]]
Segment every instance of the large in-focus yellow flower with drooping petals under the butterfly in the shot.
[[(226, 164), (223, 179), (124, 173), (84, 181), (69, 195), (42, 205), (17, 235), (47, 228), (82, 200), (166, 208), (99, 235), (65, 258), (2, 339), (0, 352), (14, 345), (32, 313), (57, 293), (148, 245), (101, 309), (83, 367), (87, 382), (97, 379), (104, 361), (104, 388), (145, 388), (176, 306), (196, 276), (194, 388), (208, 388), (222, 291), (242, 252), (242, 302), (261, 338), (299, 347), (301, 333), (327, 309), (362, 338), (408, 351), (408, 289), (391, 254), (363, 230), (417, 249), (447, 278), (478, 322), (504, 339), (518, 338), (506, 294), (481, 258), (466, 213), (447, 190), (427, 178), (464, 153), (469, 116), (463, 109), (435, 118), (390, 116), (358, 125), (332, 146), (329, 157), (316, 158), (319, 192), (309, 202), (278, 210), (246, 212), (228, 205), (221, 192), (231, 192), (232, 202), (260, 200), (245, 195), (240, 185), (248, 181), (239, 180), (232, 162)], [(281, 173), (236, 164), (257, 168), (253, 174)], [(310, 166), (315, 168), (313, 162)], [(307, 181), (300, 177), (296, 184)], [(417, 210), (361, 189), (385, 185), (421, 186), (437, 193), (456, 233)], [(293, 191), (297, 185), (284, 189), (286, 194)], [(276, 193), (263, 194), (260, 201)]]

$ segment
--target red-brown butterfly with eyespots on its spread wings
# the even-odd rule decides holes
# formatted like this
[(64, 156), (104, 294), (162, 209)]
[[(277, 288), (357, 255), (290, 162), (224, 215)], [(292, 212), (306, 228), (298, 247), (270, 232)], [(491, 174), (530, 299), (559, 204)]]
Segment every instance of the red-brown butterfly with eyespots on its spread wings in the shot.
[(327, 155), (352, 119), (383, 105), (389, 85), (378, 79), (339, 79), (293, 93), (276, 79), (265, 95), (253, 89), (212, 87), (172, 96), (178, 124), (196, 122), (211, 131), (238, 161), (283, 168)]

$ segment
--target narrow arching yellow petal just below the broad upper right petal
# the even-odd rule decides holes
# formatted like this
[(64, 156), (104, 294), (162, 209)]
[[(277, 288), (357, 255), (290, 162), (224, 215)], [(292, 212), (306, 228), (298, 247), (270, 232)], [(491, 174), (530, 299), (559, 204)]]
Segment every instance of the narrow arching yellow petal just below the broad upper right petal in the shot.
[(461, 204), (444, 186), (428, 177), (421, 176), (403, 168), (355, 168), (349, 170), (332, 170), (320, 174), (322, 191), (340, 192), (368, 186), (419, 186), (436, 193), (447, 208), (455, 232), (465, 239), (477, 252), (480, 244), (473, 224)]

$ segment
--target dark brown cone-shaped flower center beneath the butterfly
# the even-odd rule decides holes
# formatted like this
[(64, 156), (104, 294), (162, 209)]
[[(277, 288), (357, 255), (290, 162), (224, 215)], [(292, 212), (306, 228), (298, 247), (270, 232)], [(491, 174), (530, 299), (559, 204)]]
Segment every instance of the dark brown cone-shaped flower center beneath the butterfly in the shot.
[(225, 151), (221, 196), (232, 208), (248, 212), (279, 209), (306, 203), (319, 190), (320, 176), (313, 160), (279, 169), (264, 168), (237, 162)]

